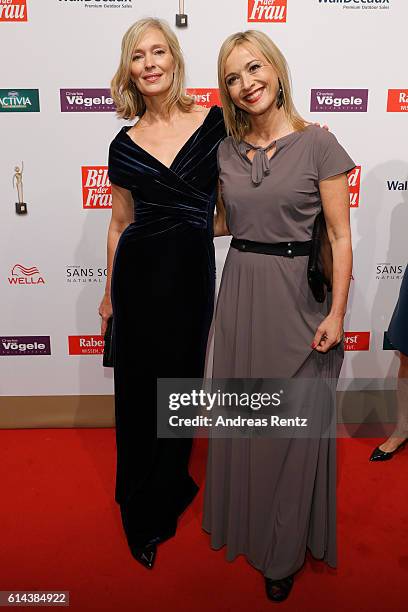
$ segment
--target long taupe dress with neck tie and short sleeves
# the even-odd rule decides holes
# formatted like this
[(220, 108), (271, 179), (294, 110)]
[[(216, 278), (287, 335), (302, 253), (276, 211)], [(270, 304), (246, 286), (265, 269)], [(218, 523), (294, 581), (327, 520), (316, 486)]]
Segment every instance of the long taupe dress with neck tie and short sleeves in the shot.
[[(247, 157), (250, 145), (225, 139), (218, 151), (228, 227), (236, 238), (307, 241), (321, 210), (319, 180), (355, 164), (333, 134), (309, 126)], [(229, 250), (215, 319), (214, 378), (331, 378), (343, 346), (312, 351), (328, 313), (307, 283), (308, 257)], [(316, 405), (316, 415), (325, 406)], [(314, 415), (314, 417), (316, 416)], [(335, 439), (210, 441), (203, 527), (227, 559), (246, 555), (269, 578), (304, 563), (308, 547), (336, 565)]]

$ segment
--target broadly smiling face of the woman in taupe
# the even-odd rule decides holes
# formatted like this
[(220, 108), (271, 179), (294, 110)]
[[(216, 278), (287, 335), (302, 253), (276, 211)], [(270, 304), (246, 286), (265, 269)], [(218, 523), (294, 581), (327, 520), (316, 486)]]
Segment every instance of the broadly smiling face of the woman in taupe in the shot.
[(224, 78), (235, 106), (250, 115), (262, 115), (276, 105), (278, 75), (252, 45), (234, 47), (225, 62)]

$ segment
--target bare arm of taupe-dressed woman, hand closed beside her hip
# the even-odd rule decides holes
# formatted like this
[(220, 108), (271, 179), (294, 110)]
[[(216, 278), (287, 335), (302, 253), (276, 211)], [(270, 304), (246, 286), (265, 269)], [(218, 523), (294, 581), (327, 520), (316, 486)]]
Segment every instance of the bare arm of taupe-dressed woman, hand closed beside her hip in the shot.
[(320, 181), (327, 234), (333, 252), (333, 301), (316, 332), (312, 347), (325, 353), (340, 342), (346, 314), (353, 255), (350, 230), (350, 197), (346, 174)]

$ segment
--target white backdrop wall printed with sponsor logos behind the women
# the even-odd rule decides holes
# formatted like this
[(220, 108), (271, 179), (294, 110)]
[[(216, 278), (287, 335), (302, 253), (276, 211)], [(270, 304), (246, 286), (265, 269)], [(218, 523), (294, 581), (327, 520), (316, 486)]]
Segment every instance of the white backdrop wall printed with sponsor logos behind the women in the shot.
[[(101, 168), (103, 177), (109, 143), (122, 122), (109, 100), (107, 109), (96, 112), (95, 105), (84, 111), (83, 101), (74, 98), (109, 87), (122, 35), (131, 23), (156, 16), (174, 25), (178, 4), (0, 0), (1, 395), (112, 392), (112, 371), (102, 367), (100, 354), (92, 354), (101, 350), (97, 308), (105, 282), (110, 211), (84, 208), (81, 168)], [(361, 165), (359, 205), (351, 209), (354, 280), (346, 330), (349, 348), (367, 350), (346, 353), (342, 384), (350, 388), (351, 379), (391, 379), (397, 358), (394, 351), (383, 350), (383, 334), (408, 250), (408, 2), (258, 0), (257, 14), (264, 9), (266, 17), (268, 12), (283, 17), (276, 22), (249, 22), (248, 4), (252, 11), (254, 0), (186, 0), (189, 25), (177, 29), (187, 63), (186, 85), (202, 88), (204, 94), (216, 88), (218, 49), (234, 31), (259, 28), (281, 47), (301, 114), (327, 123)], [(13, 11), (24, 8), (27, 20), (13, 21), (20, 14)], [(16, 105), (24, 105), (20, 98), (29, 95), (24, 94), (27, 89), (39, 90), (39, 112), (16, 112)], [(69, 97), (63, 94), (69, 112), (61, 111), (61, 89), (69, 92)], [(341, 97), (368, 90), (367, 112), (350, 112), (347, 102), (344, 108), (334, 107), (340, 112), (326, 112), (333, 105), (311, 112), (312, 89), (334, 97), (338, 89), (352, 90)], [(79, 110), (75, 103), (82, 111), (74, 112)], [(22, 161), (27, 215), (15, 213), (12, 185), (14, 167)], [(108, 192), (106, 187), (101, 195)], [(216, 247), (219, 280), (228, 240), (217, 239)], [(72, 282), (74, 278), (82, 282)], [(369, 332), (369, 338), (362, 332)], [(24, 336), (49, 337), (51, 354), (27, 354), (38, 352), (43, 341), (37, 339), (37, 347), (24, 351), (23, 344), (35, 341)], [(91, 354), (70, 355), (69, 336), (88, 336), (82, 344)], [(75, 352), (79, 339), (71, 343)]]

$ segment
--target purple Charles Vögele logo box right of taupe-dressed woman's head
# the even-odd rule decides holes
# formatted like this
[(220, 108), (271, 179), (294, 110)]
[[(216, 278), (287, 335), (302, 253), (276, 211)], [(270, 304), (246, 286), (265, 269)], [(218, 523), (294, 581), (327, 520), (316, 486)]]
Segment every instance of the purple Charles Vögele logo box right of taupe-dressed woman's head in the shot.
[(368, 89), (312, 89), (312, 113), (366, 113)]

